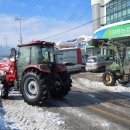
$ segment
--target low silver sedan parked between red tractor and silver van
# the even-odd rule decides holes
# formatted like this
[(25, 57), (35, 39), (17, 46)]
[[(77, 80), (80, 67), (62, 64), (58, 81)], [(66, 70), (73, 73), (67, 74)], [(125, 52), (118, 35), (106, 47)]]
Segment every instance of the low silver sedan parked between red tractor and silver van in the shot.
[(63, 62), (63, 64), (67, 67), (68, 72), (75, 72), (75, 71), (85, 72), (85, 65), (75, 64), (72, 62)]

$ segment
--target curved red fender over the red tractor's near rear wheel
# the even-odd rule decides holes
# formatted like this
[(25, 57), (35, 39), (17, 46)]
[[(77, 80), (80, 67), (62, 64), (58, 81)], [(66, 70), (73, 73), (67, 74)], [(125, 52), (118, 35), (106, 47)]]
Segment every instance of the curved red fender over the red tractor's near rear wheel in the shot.
[(40, 68), (40, 65), (29, 65), (28, 67), (24, 68), (23, 72), (22, 72), (22, 76), (28, 71), (28, 70), (38, 70), (40, 72), (43, 72), (43, 73), (50, 73), (50, 70), (47, 69), (47, 70), (43, 70)]

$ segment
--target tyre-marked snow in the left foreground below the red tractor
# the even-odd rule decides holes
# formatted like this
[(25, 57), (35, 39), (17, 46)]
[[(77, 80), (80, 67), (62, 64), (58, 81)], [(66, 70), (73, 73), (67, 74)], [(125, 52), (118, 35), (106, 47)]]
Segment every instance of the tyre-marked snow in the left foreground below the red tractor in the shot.
[(0, 130), (60, 130), (65, 124), (59, 113), (30, 106), (23, 100), (3, 100), (2, 103), (5, 115), (0, 118)]

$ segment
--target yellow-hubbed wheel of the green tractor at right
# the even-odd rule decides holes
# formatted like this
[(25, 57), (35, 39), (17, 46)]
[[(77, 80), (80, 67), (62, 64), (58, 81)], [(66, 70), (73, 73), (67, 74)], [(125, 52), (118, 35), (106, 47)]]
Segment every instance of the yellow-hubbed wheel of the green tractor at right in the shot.
[(115, 75), (111, 72), (104, 72), (102, 81), (106, 86), (114, 86), (116, 83)]

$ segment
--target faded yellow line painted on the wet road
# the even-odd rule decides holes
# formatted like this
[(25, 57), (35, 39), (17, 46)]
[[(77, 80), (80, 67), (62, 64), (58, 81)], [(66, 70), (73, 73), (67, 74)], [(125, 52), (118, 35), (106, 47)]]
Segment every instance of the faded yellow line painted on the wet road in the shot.
[(95, 110), (95, 111), (97, 111), (97, 112), (100, 112), (100, 113), (102, 113), (102, 114), (105, 114), (105, 115), (107, 115), (107, 116), (109, 116), (109, 117), (113, 117), (113, 118), (118, 119), (118, 120), (120, 120), (120, 121), (130, 123), (130, 120), (127, 119), (127, 118), (125, 118), (125, 117), (118, 116), (118, 115), (116, 115), (116, 114), (114, 114), (114, 113), (111, 113), (111, 112), (102, 110), (102, 109), (97, 108), (97, 107), (92, 106), (92, 105), (91, 105), (91, 106), (87, 106), (87, 107), (88, 107), (88, 108), (91, 108), (91, 109), (93, 109), (93, 110)]

